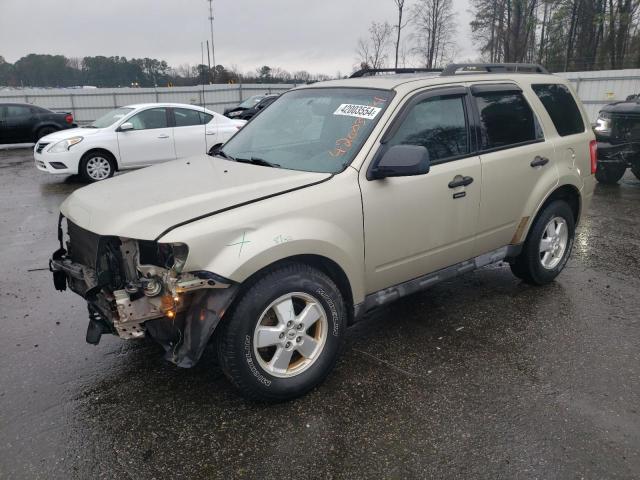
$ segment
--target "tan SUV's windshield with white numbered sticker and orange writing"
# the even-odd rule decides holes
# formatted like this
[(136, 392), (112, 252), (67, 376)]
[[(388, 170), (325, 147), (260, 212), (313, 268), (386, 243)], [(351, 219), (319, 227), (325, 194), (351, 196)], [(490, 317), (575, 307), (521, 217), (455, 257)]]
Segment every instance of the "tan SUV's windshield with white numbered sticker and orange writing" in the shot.
[(340, 172), (352, 162), (391, 96), (389, 90), (361, 88), (294, 90), (236, 133), (222, 156), (291, 170)]

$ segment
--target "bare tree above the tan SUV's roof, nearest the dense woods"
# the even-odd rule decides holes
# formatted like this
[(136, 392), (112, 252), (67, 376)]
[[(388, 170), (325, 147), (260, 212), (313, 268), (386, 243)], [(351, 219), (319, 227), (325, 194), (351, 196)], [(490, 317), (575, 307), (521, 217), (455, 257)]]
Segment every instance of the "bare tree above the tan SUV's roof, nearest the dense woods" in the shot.
[(456, 13), (451, 0), (419, 0), (413, 7), (416, 45), (424, 66), (436, 68), (455, 54)]

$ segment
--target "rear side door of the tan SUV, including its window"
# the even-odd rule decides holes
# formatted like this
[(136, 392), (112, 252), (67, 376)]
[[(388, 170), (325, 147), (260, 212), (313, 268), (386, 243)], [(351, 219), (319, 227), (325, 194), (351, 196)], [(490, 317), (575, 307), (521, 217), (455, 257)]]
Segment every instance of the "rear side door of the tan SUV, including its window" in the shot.
[(482, 201), (474, 255), (511, 243), (558, 182), (556, 154), (515, 84), (471, 86), (480, 143)]

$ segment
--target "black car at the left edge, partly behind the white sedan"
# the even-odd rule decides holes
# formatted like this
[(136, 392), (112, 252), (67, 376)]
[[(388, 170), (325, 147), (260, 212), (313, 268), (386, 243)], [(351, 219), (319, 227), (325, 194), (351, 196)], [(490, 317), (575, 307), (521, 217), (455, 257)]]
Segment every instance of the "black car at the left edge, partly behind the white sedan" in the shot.
[(26, 103), (0, 103), (0, 144), (35, 143), (45, 135), (74, 127), (70, 113)]

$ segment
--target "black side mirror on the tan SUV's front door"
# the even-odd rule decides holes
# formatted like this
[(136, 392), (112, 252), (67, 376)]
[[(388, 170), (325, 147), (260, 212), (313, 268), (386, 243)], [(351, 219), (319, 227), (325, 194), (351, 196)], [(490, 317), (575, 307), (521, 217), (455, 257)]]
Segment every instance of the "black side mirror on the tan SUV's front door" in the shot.
[(420, 145), (394, 145), (384, 149), (367, 172), (368, 180), (387, 177), (410, 177), (429, 173), (428, 150)]

